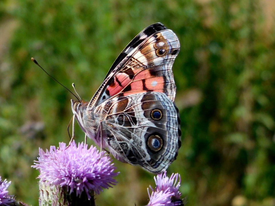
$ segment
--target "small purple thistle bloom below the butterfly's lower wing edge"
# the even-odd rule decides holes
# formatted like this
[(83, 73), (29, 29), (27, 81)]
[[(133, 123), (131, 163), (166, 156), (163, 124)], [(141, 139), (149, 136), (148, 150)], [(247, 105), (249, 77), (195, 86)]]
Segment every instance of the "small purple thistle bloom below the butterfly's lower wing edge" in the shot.
[(154, 190), (150, 185), (150, 189), (152, 190), (151, 195), (149, 193), (149, 188), (147, 188), (150, 198), (147, 206), (184, 205), (182, 199), (180, 199), (181, 193), (178, 191), (181, 180), (178, 173), (173, 173), (169, 178), (166, 176), (166, 171), (164, 171), (164, 173), (158, 174), (157, 177), (154, 177), (154, 180), (156, 187)]

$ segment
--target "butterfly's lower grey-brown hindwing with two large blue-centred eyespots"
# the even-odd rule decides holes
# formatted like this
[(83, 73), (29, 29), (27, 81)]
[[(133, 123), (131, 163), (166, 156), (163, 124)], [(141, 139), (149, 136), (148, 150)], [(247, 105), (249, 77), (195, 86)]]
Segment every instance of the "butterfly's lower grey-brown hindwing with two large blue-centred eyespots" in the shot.
[(114, 97), (95, 112), (105, 117), (105, 146), (117, 159), (159, 173), (176, 158), (181, 135), (178, 110), (164, 93)]

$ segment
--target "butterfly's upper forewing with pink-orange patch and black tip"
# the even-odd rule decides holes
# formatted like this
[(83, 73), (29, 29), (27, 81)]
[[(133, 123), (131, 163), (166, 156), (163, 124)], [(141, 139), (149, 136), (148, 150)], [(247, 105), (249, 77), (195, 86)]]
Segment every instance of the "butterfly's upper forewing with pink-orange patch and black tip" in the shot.
[[(158, 24), (158, 23), (157, 23)], [(155, 24), (154, 24), (155, 25)], [(180, 43), (173, 31), (162, 29), (164, 26), (154, 27), (144, 33), (140, 33), (130, 47), (126, 47), (123, 60), (115, 62), (115, 68), (111, 67), (107, 76), (89, 102), (89, 107), (101, 104), (103, 101), (115, 95), (128, 95), (145, 91), (164, 92), (174, 101), (176, 86), (172, 73), (172, 64), (176, 58)], [(151, 36), (150, 32), (157, 31)], [(143, 34), (143, 36), (142, 36)], [(147, 38), (146, 38), (147, 37)], [(139, 45), (137, 45), (141, 42)], [(134, 46), (134, 47), (132, 47)]]

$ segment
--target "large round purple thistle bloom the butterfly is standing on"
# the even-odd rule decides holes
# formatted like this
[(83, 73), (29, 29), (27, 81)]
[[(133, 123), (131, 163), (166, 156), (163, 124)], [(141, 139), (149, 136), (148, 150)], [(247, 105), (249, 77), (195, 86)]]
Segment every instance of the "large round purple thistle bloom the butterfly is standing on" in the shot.
[(113, 179), (118, 175), (111, 163), (111, 158), (106, 152), (99, 152), (96, 147), (87, 149), (87, 144), (71, 142), (67, 148), (63, 142), (59, 143), (59, 148), (50, 147), (50, 151), (39, 148), (38, 161), (34, 161), (32, 167), (40, 171), (41, 181), (46, 181), (47, 185), (67, 187), (71, 194), (76, 191), (76, 195), (85, 191), (88, 199), (91, 198), (91, 191), (99, 194), (103, 188), (112, 187), (117, 181)]

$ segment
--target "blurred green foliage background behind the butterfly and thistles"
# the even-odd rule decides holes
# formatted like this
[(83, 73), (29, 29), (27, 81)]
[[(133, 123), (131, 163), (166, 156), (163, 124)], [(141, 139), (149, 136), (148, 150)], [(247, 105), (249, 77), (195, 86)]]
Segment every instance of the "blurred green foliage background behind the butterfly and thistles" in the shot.
[[(10, 194), (38, 205), (38, 148), (69, 142), (74, 97), (30, 58), (89, 101), (129, 41), (162, 22), (181, 43), (182, 147), (168, 174), (180, 173), (186, 205), (275, 205), (274, 14), (272, 0), (0, 1), (0, 175)], [(146, 205), (154, 175), (114, 162), (119, 183), (97, 205)]]

